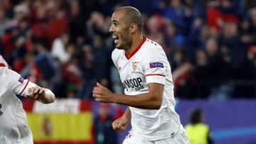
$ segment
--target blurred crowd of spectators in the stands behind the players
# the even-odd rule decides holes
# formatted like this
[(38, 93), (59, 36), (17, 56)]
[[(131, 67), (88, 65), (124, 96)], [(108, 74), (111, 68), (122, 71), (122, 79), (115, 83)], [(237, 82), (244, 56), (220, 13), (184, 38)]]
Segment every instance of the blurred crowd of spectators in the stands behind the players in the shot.
[(122, 93), (108, 30), (114, 9), (128, 5), (164, 48), (176, 97), (256, 97), (254, 0), (1, 0), (0, 53), (57, 97), (92, 99), (96, 82)]

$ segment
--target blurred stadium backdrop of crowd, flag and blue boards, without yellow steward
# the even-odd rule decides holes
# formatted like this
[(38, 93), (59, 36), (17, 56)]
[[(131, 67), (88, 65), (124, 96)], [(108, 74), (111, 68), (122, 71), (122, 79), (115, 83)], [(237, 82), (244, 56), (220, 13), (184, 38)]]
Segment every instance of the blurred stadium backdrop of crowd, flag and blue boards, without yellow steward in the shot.
[(58, 98), (23, 99), (35, 144), (119, 144), (111, 122), (125, 106), (98, 104), (96, 82), (121, 94), (108, 32), (119, 6), (144, 16), (144, 35), (171, 64), (176, 111), (205, 113), (216, 144), (256, 143), (256, 1), (0, 0), (0, 53), (22, 77)]

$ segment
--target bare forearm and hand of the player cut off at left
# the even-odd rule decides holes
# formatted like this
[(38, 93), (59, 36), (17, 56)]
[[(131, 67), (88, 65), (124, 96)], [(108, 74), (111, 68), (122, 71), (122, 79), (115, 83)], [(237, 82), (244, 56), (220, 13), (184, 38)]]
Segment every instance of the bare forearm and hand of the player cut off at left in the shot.
[(50, 89), (39, 86), (28, 88), (26, 97), (41, 101), (43, 104), (50, 104), (55, 101), (55, 94)]

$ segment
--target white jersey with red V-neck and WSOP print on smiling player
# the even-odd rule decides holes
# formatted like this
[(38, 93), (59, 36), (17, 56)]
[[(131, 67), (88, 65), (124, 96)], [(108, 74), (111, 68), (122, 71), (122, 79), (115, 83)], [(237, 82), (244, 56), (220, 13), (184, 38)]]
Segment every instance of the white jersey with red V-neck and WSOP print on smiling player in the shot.
[(164, 84), (164, 94), (159, 110), (138, 109), (132, 106), (131, 134), (144, 140), (169, 138), (179, 131), (181, 122), (174, 110), (174, 83), (166, 54), (158, 43), (144, 38), (129, 57), (124, 50), (114, 49), (112, 60), (119, 70), (127, 95), (149, 92), (149, 83)]

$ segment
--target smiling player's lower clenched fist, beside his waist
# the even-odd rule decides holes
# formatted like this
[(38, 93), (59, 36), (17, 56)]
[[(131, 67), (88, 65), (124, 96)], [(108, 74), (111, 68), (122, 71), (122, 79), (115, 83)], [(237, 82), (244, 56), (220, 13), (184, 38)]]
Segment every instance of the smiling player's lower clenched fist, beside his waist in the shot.
[(112, 128), (114, 129), (114, 131), (123, 132), (127, 128), (128, 124), (128, 119), (123, 115), (112, 123)]

